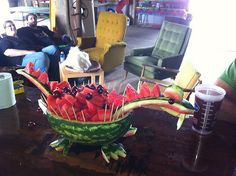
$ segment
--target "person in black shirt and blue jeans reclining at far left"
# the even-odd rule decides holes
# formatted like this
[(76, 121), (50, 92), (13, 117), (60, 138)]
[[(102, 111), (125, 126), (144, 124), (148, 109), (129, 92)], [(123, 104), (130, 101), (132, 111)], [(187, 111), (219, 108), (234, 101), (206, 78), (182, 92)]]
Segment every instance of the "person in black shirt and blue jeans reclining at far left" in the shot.
[(35, 70), (47, 71), (50, 80), (59, 80), (60, 52), (55, 46), (42, 48), (28, 44), (17, 36), (16, 26), (11, 20), (5, 21), (3, 28), (5, 35), (0, 40), (0, 52), (8, 66), (26, 66), (32, 62)]

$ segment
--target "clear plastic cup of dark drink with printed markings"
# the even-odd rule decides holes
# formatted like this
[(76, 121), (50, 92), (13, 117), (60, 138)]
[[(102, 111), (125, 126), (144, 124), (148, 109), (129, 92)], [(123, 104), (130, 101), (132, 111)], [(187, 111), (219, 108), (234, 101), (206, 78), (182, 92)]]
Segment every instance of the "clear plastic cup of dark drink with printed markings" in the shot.
[(195, 88), (195, 112), (192, 129), (199, 134), (212, 133), (216, 113), (220, 109), (226, 92), (216, 85), (201, 84)]

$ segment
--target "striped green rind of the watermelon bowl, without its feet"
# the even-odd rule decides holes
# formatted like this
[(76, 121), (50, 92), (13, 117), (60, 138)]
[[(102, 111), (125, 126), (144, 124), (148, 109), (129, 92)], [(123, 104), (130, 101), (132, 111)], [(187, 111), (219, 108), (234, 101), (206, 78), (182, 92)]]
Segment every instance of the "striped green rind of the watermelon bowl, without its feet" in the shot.
[(78, 122), (62, 119), (50, 113), (47, 118), (51, 127), (71, 142), (83, 145), (102, 146), (122, 137), (131, 125), (132, 113), (111, 122)]

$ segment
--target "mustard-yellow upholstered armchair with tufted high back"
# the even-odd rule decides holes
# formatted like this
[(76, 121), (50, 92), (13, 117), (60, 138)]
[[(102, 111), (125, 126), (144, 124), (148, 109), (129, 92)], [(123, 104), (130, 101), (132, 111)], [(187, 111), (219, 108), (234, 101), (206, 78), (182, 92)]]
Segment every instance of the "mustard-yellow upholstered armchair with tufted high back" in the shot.
[(121, 65), (125, 57), (127, 18), (124, 14), (100, 12), (96, 27), (96, 38), (78, 38), (80, 49), (89, 54), (90, 59), (98, 61), (102, 69), (111, 71)]

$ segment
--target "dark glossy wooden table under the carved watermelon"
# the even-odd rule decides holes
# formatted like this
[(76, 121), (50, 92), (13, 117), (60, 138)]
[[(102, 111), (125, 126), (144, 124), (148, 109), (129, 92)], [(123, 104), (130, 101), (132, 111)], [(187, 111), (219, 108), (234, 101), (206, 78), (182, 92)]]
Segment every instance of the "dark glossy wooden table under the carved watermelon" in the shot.
[(136, 135), (121, 139), (127, 157), (107, 164), (100, 148), (77, 146), (67, 156), (50, 148), (57, 134), (37, 112), (38, 96), (26, 89), (14, 107), (0, 110), (0, 175), (236, 175), (234, 124), (219, 120), (212, 135), (199, 136), (191, 130), (190, 119), (176, 131), (177, 118), (140, 108), (132, 123), (138, 127)]

